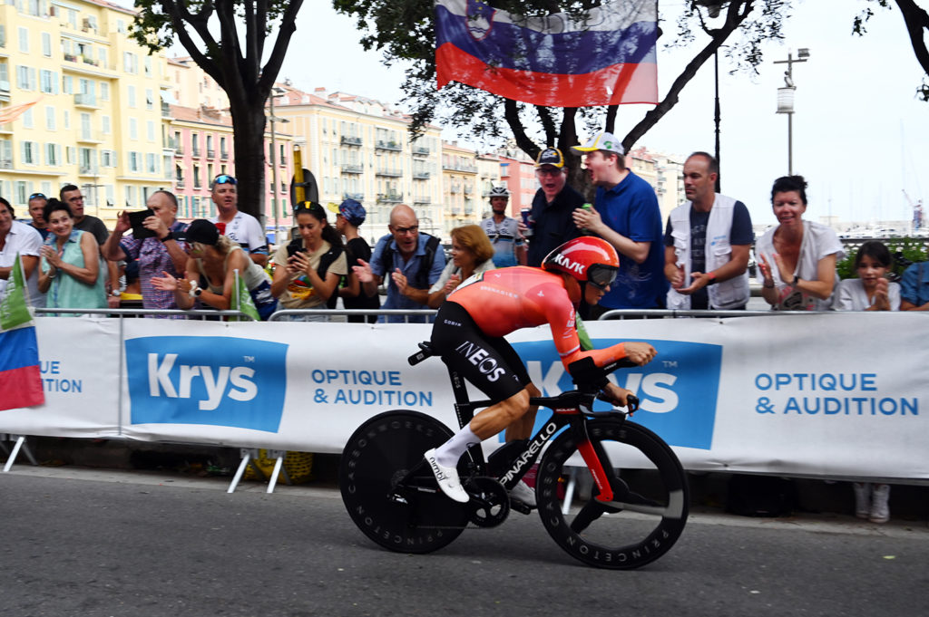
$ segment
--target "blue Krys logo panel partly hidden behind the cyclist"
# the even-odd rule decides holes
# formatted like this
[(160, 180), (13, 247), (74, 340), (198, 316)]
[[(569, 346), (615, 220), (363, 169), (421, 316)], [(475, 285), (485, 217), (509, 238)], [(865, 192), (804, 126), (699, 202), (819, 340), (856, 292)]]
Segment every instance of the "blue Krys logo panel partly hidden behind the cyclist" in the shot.
[[(595, 339), (594, 345), (602, 349), (619, 342), (622, 340)], [(709, 450), (713, 445), (722, 346), (683, 341), (648, 342), (658, 351), (654, 360), (646, 366), (621, 368), (610, 379), (639, 397), (641, 406), (635, 412), (635, 422), (657, 432), (671, 445)], [(533, 383), (543, 389), (543, 395), (553, 396), (574, 389), (552, 342), (517, 342), (513, 346), (526, 362)], [(594, 408), (599, 411), (610, 407), (598, 401)], [(540, 410), (539, 416), (536, 429), (547, 414)]]

